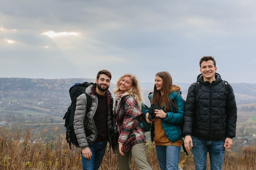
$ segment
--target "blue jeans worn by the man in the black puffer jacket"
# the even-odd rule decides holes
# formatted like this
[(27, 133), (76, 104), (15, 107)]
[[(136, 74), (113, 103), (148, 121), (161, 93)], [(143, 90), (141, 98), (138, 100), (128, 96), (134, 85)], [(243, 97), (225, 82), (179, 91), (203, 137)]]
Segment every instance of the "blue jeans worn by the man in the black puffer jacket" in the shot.
[(206, 170), (207, 152), (209, 152), (211, 170), (222, 170), (225, 140), (209, 141), (191, 136), (195, 170)]

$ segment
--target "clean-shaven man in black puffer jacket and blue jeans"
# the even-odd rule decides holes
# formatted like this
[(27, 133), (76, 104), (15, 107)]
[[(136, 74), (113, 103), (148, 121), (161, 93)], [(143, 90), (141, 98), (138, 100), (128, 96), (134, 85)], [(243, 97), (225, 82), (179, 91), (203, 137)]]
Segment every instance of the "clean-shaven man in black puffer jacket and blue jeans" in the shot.
[[(222, 170), (225, 148), (231, 148), (236, 135), (237, 108), (233, 89), (224, 85), (216, 73), (216, 61), (211, 56), (200, 60), (197, 83), (189, 86), (184, 110), (184, 144), (193, 148), (195, 170), (206, 170), (207, 152), (211, 170)], [(195, 92), (195, 86), (199, 85)], [(229, 91), (225, 91), (228, 86)], [(226, 95), (226, 93), (227, 95)]]

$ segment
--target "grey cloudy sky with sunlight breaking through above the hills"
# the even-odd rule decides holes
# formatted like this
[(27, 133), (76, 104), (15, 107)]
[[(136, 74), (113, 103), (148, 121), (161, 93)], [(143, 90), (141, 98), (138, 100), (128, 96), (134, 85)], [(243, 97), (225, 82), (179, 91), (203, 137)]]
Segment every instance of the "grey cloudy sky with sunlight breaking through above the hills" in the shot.
[(0, 77), (124, 73), (193, 83), (214, 56), (230, 83), (256, 83), (255, 0), (0, 0)]

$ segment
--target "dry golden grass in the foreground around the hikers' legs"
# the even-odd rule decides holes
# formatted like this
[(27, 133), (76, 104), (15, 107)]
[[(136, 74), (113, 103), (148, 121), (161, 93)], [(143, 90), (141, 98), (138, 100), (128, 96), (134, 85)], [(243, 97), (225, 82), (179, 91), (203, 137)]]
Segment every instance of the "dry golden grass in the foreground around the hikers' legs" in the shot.
[[(108, 149), (108, 148), (107, 148)], [(29, 130), (6, 129), (0, 127), (0, 169), (1, 170), (81, 170), (81, 151), (72, 146), (64, 135), (55, 141), (44, 143)], [(155, 146), (147, 144), (147, 159), (152, 170), (159, 170)], [(256, 146), (243, 148), (241, 154), (226, 150), (223, 170), (255, 170)], [(182, 151), (180, 167), (183, 170), (194, 170), (193, 154), (186, 156)], [(207, 163), (209, 168), (209, 158)], [(117, 155), (112, 150), (106, 151), (100, 170), (118, 170)], [(138, 170), (132, 160), (131, 170)]]

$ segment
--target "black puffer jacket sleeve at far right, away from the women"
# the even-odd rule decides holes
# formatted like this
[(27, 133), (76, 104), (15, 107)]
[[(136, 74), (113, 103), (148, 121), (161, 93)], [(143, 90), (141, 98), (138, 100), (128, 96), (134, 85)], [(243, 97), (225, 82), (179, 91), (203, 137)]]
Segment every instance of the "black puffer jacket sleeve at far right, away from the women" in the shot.
[(236, 119), (237, 119), (237, 107), (233, 88), (230, 84), (229, 94), (227, 95), (226, 102), (226, 137), (233, 138), (236, 136)]

